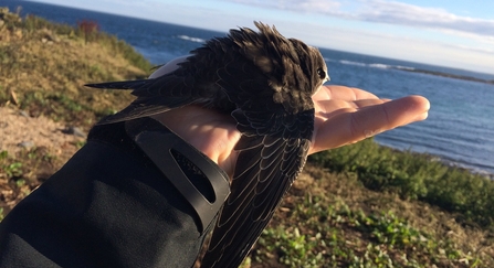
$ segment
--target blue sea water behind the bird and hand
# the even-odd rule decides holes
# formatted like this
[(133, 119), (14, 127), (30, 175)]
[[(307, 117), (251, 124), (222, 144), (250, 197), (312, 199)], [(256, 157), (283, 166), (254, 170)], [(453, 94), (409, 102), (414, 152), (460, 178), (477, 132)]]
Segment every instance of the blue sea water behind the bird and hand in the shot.
[[(209, 31), (39, 2), (1, 0), (0, 7), (21, 15), (34, 14), (53, 22), (76, 25), (96, 21), (102, 31), (115, 34), (153, 64), (186, 55), (206, 40), (224, 36)], [(237, 26), (237, 25), (233, 25)], [(421, 95), (431, 103), (429, 118), (376, 136), (380, 144), (425, 152), (454, 167), (475, 173), (494, 174), (494, 85), (424, 73), (425, 69), (494, 79), (492, 74), (348, 53), (319, 47), (329, 68), (330, 84), (359, 87), (382, 98)]]

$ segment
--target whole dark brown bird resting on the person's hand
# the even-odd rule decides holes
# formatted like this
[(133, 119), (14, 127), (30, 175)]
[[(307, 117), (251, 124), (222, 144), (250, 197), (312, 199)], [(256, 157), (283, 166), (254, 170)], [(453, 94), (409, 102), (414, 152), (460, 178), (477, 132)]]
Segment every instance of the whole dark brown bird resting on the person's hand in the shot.
[(133, 89), (137, 98), (98, 124), (147, 117), (187, 105), (231, 115), (241, 138), (230, 195), (201, 267), (238, 267), (305, 165), (314, 132), (312, 96), (329, 79), (318, 49), (254, 21), (195, 49), (158, 77), (88, 84)]

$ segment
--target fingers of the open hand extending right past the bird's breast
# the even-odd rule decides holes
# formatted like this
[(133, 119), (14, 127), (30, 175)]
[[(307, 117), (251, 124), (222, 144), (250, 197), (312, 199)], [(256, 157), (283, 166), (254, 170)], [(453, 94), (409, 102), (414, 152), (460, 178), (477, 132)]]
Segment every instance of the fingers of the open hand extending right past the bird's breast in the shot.
[(380, 99), (369, 92), (345, 86), (323, 86), (313, 100), (316, 121), (309, 154), (424, 120), (430, 108), (422, 96)]

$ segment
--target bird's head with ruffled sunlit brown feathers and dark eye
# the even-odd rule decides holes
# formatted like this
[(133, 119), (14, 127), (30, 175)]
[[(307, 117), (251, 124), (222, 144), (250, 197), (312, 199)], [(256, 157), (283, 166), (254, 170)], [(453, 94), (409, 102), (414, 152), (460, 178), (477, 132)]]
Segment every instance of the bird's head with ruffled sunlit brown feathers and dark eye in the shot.
[(329, 79), (320, 52), (296, 39), (286, 39), (275, 26), (254, 22), (249, 28), (231, 30), (230, 37), (241, 53), (271, 81), (274, 89), (305, 92), (311, 96)]

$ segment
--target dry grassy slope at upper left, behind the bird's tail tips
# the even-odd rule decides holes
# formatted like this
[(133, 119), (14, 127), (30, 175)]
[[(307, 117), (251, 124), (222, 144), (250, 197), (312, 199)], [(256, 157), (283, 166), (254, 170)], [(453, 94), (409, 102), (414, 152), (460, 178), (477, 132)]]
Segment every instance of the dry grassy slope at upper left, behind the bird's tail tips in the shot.
[(146, 77), (150, 63), (124, 41), (98, 31), (96, 22), (77, 28), (0, 10), (0, 104), (32, 116), (82, 121), (90, 127), (133, 98), (127, 92), (94, 90), (93, 82)]

